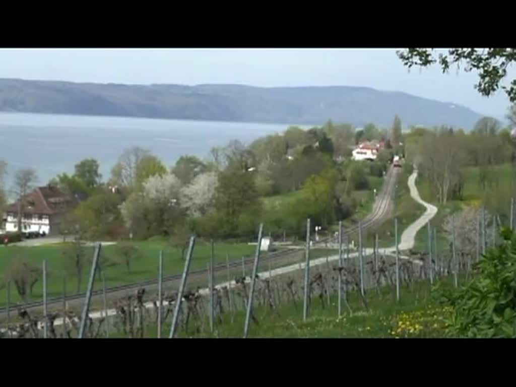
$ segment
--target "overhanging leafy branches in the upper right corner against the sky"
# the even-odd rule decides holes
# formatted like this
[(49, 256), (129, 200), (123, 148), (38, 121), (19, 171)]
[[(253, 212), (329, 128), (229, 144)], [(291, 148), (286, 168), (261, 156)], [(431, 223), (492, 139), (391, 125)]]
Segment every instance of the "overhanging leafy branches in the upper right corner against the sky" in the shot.
[(439, 62), (443, 73), (447, 73), (450, 65), (456, 64), (457, 70), (463, 65), (466, 72), (478, 72), (475, 89), (482, 95), (490, 96), (499, 88), (505, 91), (511, 103), (516, 102), (516, 79), (510, 86), (502, 85), (507, 76), (507, 69), (516, 61), (516, 49), (449, 49), (447, 54), (433, 55), (433, 49), (407, 49), (398, 51), (398, 57), (409, 69), (412, 66), (428, 67)]

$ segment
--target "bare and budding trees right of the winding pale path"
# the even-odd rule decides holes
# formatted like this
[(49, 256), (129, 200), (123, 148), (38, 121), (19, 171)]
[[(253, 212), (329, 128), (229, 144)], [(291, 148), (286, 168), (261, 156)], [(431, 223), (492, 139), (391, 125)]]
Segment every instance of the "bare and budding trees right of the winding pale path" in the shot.
[[(506, 179), (498, 166), (510, 164), (516, 172), (516, 138), (494, 118), (480, 119), (470, 133), (442, 126), (414, 128), (406, 137), (433, 198), (443, 204), (464, 199), (465, 167), (478, 168), (478, 192), (483, 197), (492, 196)], [(510, 176), (514, 178), (516, 173)]]

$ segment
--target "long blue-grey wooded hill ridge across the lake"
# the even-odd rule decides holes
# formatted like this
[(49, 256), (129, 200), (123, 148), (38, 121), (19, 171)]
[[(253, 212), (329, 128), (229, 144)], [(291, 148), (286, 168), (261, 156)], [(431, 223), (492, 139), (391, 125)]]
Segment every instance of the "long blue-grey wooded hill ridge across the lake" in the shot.
[(119, 85), (0, 79), (0, 111), (47, 114), (362, 126), (453, 125), (470, 130), (481, 117), (454, 103), (366, 87)]

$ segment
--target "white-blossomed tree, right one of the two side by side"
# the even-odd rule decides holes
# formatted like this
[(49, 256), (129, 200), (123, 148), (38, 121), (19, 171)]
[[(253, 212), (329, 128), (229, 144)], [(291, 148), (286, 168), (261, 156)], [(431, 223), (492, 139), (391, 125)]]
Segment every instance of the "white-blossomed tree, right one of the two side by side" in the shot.
[(187, 209), (189, 216), (202, 216), (209, 211), (217, 185), (217, 173), (205, 172), (197, 175), (189, 185), (181, 189), (181, 206)]

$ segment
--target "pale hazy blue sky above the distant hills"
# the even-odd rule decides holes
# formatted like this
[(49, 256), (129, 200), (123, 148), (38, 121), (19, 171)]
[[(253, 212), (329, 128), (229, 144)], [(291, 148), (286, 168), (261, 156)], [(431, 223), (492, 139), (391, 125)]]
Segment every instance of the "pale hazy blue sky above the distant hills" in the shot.
[[(476, 73), (408, 70), (387, 49), (104, 49), (0, 50), (0, 77), (151, 84), (232, 83), (252, 86), (367, 86), (454, 102), (480, 114), (505, 116), (503, 91), (474, 88)], [(516, 69), (509, 70), (509, 80)]]

